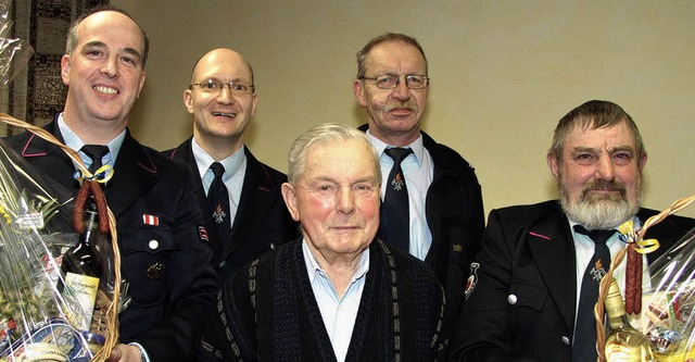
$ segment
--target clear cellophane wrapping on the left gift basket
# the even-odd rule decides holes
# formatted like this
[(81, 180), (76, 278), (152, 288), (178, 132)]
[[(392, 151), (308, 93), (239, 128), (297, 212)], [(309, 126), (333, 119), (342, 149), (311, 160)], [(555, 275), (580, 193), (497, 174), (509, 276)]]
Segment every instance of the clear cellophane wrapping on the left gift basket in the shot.
[[(60, 288), (62, 253), (77, 242), (68, 192), (31, 172), (0, 139), (0, 360), (89, 361), (85, 315)], [(61, 290), (62, 289), (62, 290)]]

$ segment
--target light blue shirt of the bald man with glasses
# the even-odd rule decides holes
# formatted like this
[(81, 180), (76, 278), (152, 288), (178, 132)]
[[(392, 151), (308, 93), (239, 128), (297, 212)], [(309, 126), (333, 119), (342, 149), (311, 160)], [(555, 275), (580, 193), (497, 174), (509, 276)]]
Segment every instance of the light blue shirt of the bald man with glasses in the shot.
[[(195, 164), (198, 165), (198, 173), (203, 182), (203, 189), (205, 195), (210, 190), (210, 185), (215, 178), (215, 174), (210, 166), (215, 160), (203, 150), (195, 141), (195, 138), (191, 140), (191, 147), (193, 149), (193, 158), (195, 158)], [(247, 154), (244, 153), (244, 147), (242, 146), (228, 158), (219, 161), (225, 166), (225, 174), (222, 176), (222, 182), (227, 186), (227, 192), (229, 194), (229, 220), (233, 225), (235, 216), (237, 215), (237, 209), (239, 208), (239, 200), (241, 199), (241, 188), (243, 187), (243, 178), (247, 175)]]

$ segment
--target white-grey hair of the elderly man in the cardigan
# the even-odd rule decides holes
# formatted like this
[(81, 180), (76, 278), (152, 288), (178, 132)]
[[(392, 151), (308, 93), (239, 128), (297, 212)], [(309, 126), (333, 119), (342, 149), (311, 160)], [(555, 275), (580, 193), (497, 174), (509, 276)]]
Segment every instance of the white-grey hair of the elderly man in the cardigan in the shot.
[(370, 150), (371, 161), (375, 165), (375, 174), (377, 175), (379, 185), (381, 185), (379, 154), (374, 146), (371, 146), (369, 138), (367, 138), (363, 132), (339, 123), (325, 123), (313, 126), (294, 140), (288, 157), (288, 182), (296, 185), (296, 182), (302, 177), (306, 171), (306, 154), (312, 147), (318, 145), (328, 146), (336, 141), (349, 140), (363, 142)]

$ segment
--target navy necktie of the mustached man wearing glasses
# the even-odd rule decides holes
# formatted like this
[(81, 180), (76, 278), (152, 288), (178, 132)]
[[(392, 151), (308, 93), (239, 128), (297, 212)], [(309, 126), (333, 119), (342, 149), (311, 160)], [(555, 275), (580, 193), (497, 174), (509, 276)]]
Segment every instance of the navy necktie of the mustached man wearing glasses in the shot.
[(381, 228), (387, 245), (408, 251), (410, 246), (410, 217), (408, 189), (401, 162), (413, 153), (409, 148), (389, 148), (383, 151), (393, 159), (393, 167), (387, 180), (387, 191), (381, 204)]

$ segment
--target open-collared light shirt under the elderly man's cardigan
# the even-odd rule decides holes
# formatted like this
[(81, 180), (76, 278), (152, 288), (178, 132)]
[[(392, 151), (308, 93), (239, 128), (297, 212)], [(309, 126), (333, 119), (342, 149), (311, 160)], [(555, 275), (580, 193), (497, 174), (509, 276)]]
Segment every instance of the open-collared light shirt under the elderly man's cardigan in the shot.
[(365, 289), (366, 275), (369, 271), (369, 249), (362, 252), (355, 275), (350, 280), (343, 298), (338, 297), (338, 291), (336, 291), (326, 272), (318, 265), (316, 258), (308, 249), (306, 240), (302, 241), (302, 251), (304, 252), (308, 280), (312, 284), (316, 303), (321, 312), (326, 332), (328, 332), (330, 342), (333, 346), (333, 352), (338, 362), (343, 362), (348, 354), (350, 338), (352, 337), (357, 311), (359, 310), (362, 292)]

